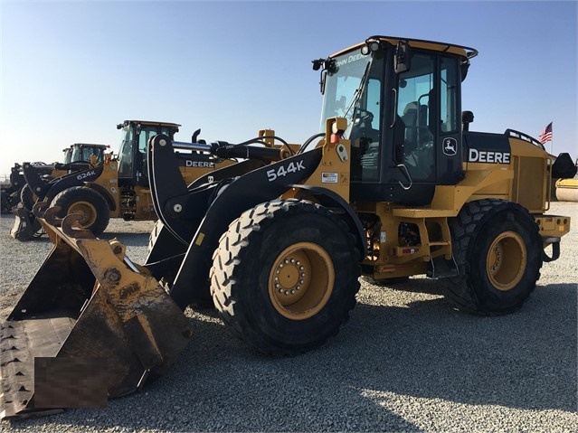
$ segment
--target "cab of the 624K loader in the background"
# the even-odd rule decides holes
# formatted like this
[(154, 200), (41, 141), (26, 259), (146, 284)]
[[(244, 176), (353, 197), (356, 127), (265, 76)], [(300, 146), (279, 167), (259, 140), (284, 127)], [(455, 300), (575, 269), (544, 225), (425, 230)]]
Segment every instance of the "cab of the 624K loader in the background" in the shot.
[(165, 134), (171, 140), (180, 125), (143, 120), (125, 120), (117, 126), (121, 130), (118, 151), (118, 183), (121, 185), (148, 186), (147, 143), (158, 134)]

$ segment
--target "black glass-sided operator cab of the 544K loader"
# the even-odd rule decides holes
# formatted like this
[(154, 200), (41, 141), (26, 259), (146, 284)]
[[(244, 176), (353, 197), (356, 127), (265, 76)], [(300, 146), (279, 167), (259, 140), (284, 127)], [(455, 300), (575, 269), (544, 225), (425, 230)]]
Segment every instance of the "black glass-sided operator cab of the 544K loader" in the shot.
[(322, 121), (347, 119), (352, 201), (424, 205), (463, 178), (460, 83), (474, 53), (375, 36), (324, 61)]

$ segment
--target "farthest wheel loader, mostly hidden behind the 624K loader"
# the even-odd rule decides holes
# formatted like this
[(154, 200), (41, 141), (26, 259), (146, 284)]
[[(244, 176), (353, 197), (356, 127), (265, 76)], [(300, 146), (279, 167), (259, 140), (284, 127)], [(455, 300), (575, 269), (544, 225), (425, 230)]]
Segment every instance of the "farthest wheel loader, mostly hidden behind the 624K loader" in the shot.
[[(44, 164), (42, 162), (34, 162), (26, 164), (31, 165), (38, 172), (37, 175), (43, 181), (48, 182), (71, 171), (88, 168), (90, 166), (90, 155), (96, 157), (95, 164), (103, 162), (105, 150), (108, 148), (108, 145), (75, 143), (62, 149), (62, 152), (64, 152), (62, 163)], [(30, 188), (26, 186), (23, 166), (16, 163), (10, 171), (10, 183), (2, 187), (2, 213), (12, 212), (13, 208), (22, 202), (23, 198), (26, 201), (24, 207), (32, 209), (35, 197)]]

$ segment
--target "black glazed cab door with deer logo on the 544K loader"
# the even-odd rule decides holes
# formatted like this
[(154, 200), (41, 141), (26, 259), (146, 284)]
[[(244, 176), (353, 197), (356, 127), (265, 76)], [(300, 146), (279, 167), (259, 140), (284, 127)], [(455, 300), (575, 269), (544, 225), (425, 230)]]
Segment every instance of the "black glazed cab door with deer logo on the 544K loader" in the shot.
[(460, 62), (437, 52), (411, 53), (411, 67), (393, 75), (390, 201), (429, 204), (438, 184), (463, 178)]

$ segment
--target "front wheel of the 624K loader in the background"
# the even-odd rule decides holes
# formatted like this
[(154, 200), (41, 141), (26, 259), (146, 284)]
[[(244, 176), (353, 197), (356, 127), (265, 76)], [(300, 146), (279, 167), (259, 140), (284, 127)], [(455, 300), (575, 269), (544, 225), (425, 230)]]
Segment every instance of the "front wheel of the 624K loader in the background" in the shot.
[(63, 218), (70, 213), (80, 213), (81, 227), (99, 236), (109, 225), (109, 204), (102, 195), (86, 186), (72, 186), (58, 193), (51, 202), (52, 206), (60, 206), (58, 217)]

